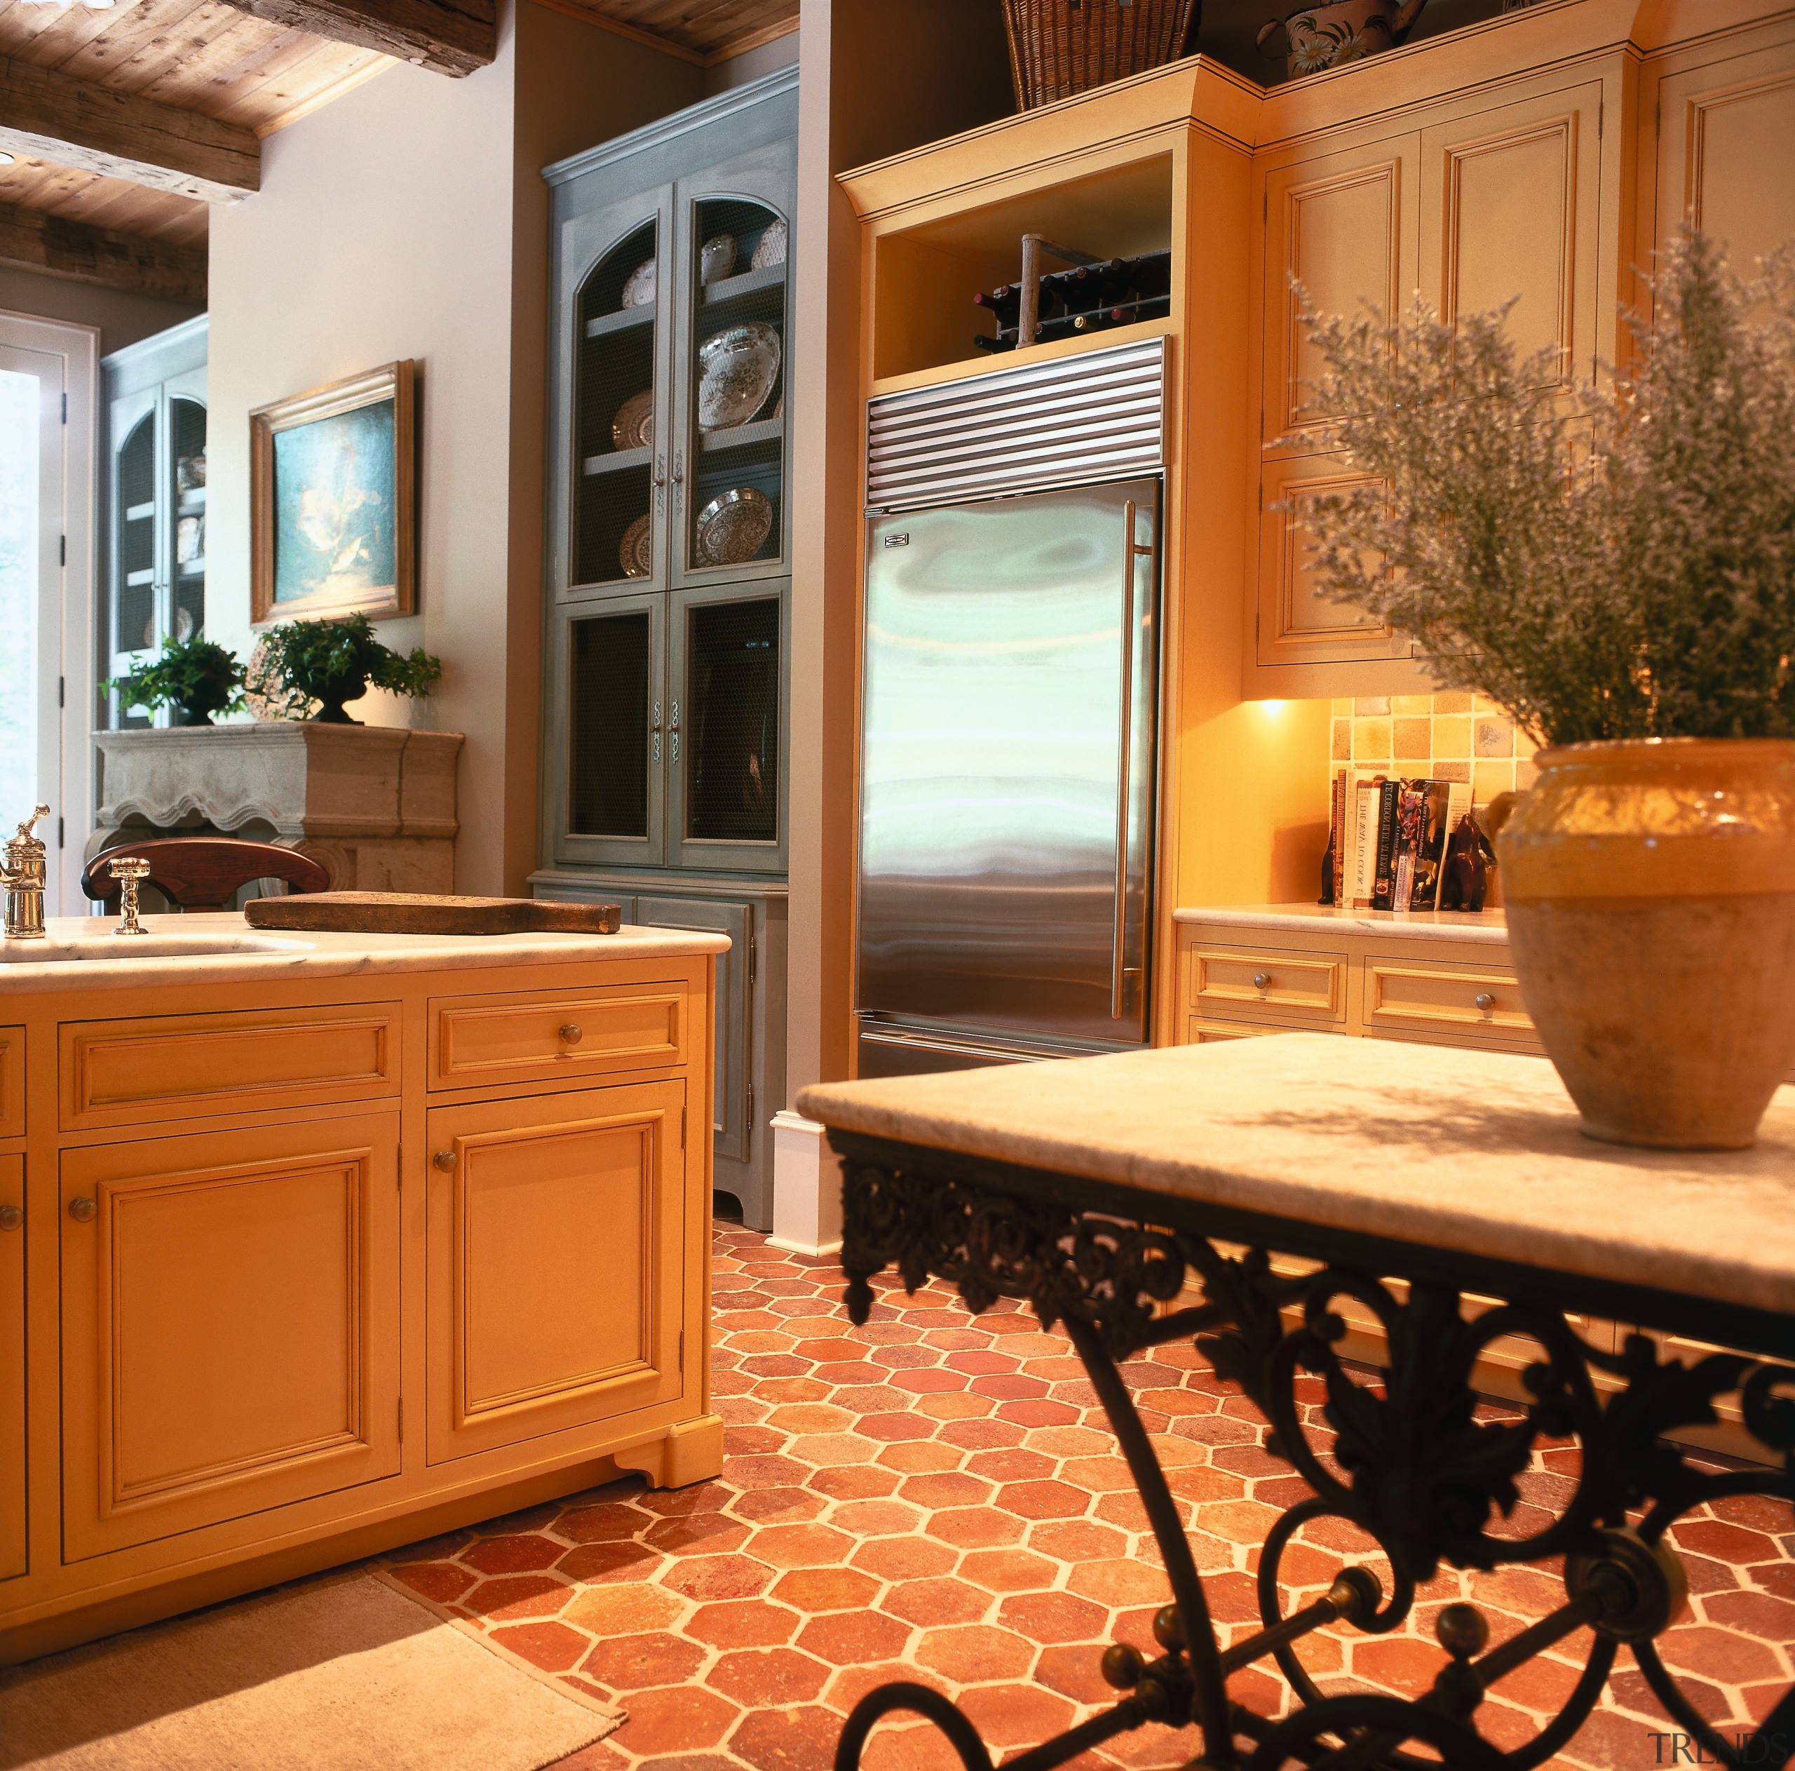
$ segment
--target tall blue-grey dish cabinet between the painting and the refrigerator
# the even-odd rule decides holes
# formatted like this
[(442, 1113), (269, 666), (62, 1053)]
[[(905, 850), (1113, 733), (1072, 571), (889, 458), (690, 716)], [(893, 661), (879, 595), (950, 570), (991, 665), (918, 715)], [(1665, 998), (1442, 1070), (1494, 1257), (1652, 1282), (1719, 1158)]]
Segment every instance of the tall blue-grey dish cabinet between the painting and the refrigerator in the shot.
[(797, 70), (553, 189), (538, 896), (731, 938), (716, 1187), (772, 1227), (784, 1105)]

